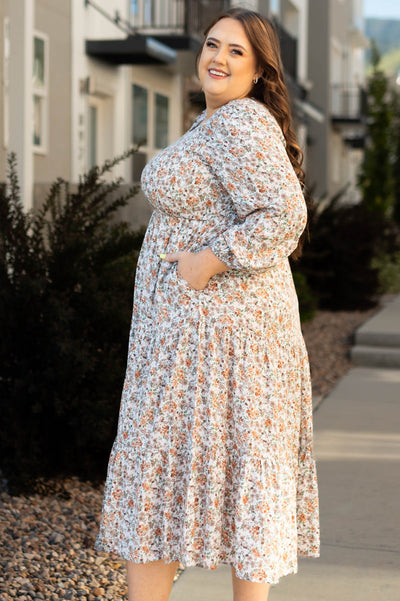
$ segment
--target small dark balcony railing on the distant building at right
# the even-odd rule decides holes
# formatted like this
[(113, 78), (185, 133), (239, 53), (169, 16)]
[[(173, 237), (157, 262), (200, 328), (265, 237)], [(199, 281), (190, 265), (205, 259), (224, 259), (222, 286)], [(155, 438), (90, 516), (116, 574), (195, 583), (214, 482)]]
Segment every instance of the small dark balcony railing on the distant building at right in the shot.
[(339, 123), (363, 121), (367, 109), (367, 97), (364, 88), (334, 84), (331, 92), (331, 117), (333, 121)]

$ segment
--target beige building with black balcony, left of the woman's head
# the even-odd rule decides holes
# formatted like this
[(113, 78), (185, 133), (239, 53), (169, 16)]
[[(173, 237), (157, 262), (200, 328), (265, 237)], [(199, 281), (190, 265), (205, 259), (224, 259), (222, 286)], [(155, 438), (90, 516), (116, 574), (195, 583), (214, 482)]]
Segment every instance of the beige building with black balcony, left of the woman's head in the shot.
[[(77, 182), (141, 141), (117, 173), (138, 180), (145, 162), (182, 134), (200, 31), (226, 4), (3, 0), (0, 179), (15, 151), (25, 205), (35, 208), (57, 177)], [(147, 223), (151, 209), (140, 196), (131, 209), (125, 218)]]

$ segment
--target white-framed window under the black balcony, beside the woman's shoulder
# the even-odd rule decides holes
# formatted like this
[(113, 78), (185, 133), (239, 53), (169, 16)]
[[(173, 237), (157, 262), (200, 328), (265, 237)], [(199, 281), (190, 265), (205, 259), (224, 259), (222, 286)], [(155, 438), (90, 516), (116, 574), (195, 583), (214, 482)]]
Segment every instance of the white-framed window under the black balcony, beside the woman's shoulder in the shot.
[(132, 142), (140, 150), (132, 157), (132, 180), (140, 181), (147, 161), (169, 144), (168, 96), (134, 84), (132, 86)]

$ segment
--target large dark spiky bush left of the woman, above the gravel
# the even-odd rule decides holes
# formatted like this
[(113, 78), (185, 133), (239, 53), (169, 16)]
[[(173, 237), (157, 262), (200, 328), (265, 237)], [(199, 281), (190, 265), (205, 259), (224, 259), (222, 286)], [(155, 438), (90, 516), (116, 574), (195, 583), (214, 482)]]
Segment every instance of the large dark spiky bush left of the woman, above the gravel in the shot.
[[(35, 476), (104, 476), (126, 363), (144, 232), (115, 222), (121, 179), (95, 167), (58, 179), (25, 213), (9, 158), (0, 191), (0, 462), (11, 488)], [(114, 219), (114, 221), (113, 221)]]

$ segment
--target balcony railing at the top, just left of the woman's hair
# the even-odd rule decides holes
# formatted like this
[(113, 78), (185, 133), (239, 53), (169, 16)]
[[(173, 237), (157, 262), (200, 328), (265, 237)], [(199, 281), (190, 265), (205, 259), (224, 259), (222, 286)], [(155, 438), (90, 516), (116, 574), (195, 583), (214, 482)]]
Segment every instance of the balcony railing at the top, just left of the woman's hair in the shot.
[(130, 22), (138, 32), (199, 36), (229, 6), (229, 0), (133, 0)]

